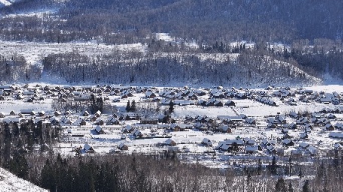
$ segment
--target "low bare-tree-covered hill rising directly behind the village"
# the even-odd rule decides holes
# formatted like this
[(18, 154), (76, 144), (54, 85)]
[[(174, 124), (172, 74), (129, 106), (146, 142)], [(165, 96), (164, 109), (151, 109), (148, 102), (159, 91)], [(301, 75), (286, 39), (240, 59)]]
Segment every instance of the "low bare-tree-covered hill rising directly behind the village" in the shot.
[[(68, 82), (109, 82), (123, 84), (311, 84), (319, 79), (295, 65), (294, 60), (280, 61), (275, 57), (243, 52), (238, 58), (226, 54), (201, 59), (202, 54), (161, 54), (127, 59), (112, 54), (90, 58), (75, 53), (50, 54), (43, 61), (51, 75)], [(284, 59), (283, 59), (284, 60)], [(288, 63), (291, 62), (291, 63)]]

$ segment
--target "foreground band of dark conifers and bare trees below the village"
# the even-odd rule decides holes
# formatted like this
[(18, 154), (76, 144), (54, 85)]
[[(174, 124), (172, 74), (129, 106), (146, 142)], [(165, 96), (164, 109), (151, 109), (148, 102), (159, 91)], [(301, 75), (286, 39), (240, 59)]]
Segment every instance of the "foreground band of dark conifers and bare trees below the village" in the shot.
[(50, 191), (340, 191), (341, 155), (332, 150), (325, 160), (314, 157), (311, 163), (303, 163), (306, 157), (274, 157), (223, 169), (198, 160), (184, 163), (187, 154), (175, 151), (74, 157), (51, 153), (28, 155), (28, 179)]

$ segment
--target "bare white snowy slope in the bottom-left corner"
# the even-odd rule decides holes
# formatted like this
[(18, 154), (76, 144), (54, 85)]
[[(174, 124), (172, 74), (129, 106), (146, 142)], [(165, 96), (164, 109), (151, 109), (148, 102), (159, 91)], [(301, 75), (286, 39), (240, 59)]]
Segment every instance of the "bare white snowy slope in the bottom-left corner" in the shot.
[(18, 178), (16, 175), (12, 174), (11, 172), (0, 168), (0, 191), (32, 191), (32, 192), (40, 192), (40, 191), (48, 191), (46, 189), (40, 188), (31, 182), (24, 180), (22, 178)]

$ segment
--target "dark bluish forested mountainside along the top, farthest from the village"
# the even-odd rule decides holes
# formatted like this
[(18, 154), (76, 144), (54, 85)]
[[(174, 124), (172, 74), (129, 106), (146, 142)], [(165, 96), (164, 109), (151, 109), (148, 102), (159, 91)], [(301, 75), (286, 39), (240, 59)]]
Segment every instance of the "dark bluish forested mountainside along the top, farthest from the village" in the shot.
[[(291, 42), (297, 38), (337, 39), (343, 35), (340, 0), (23, 0), (0, 11), (6, 15), (33, 8), (59, 10), (56, 14), (62, 19), (47, 17), (44, 27), (79, 31), (79, 38), (112, 32), (134, 33), (136, 37), (146, 32), (171, 32), (197, 41)], [(35, 18), (22, 19), (28, 22), (29, 28), (24, 29), (41, 27), (29, 22)]]

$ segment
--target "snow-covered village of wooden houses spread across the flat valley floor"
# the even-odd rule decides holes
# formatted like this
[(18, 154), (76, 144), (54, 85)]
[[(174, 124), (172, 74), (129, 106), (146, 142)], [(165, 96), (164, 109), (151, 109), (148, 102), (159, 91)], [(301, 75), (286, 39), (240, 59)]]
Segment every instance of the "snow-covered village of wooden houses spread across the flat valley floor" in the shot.
[(246, 166), (275, 155), (314, 158), (341, 149), (339, 88), (13, 84), (0, 86), (0, 115), (3, 127), (31, 122), (44, 136), (58, 134), (56, 144), (38, 142), (34, 150), (176, 151), (209, 167)]

